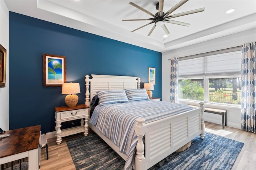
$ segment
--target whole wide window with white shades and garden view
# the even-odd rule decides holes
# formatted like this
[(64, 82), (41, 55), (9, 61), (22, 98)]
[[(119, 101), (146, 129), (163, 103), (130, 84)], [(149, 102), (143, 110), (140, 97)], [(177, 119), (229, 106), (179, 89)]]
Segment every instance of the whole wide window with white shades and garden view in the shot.
[(180, 58), (179, 99), (240, 105), (240, 49)]

